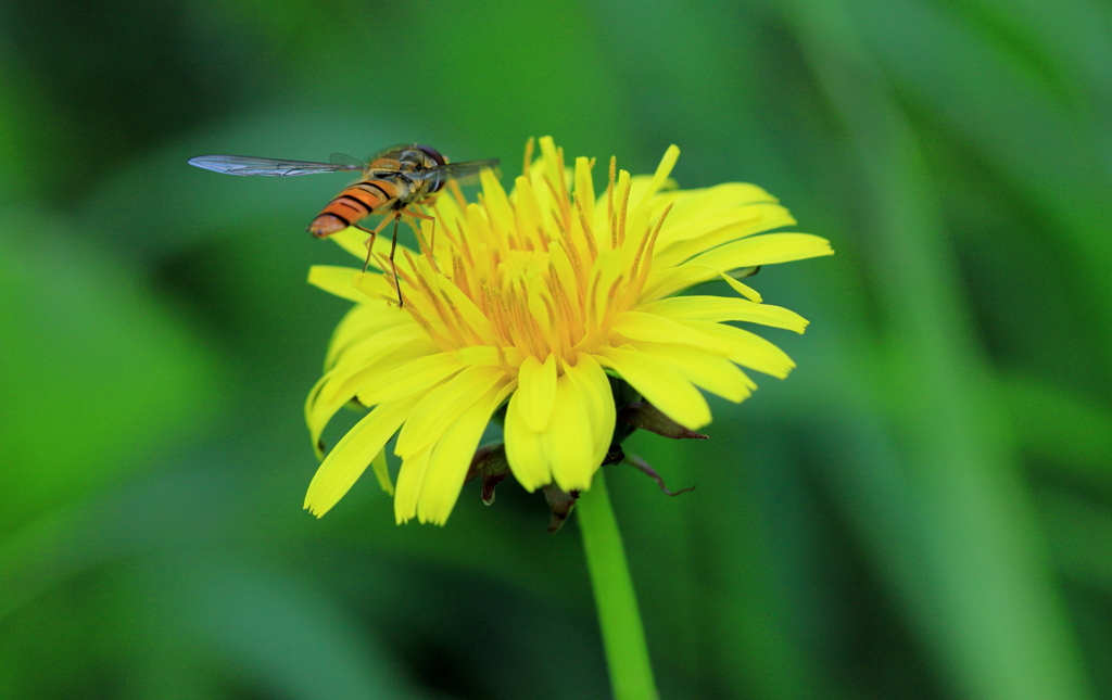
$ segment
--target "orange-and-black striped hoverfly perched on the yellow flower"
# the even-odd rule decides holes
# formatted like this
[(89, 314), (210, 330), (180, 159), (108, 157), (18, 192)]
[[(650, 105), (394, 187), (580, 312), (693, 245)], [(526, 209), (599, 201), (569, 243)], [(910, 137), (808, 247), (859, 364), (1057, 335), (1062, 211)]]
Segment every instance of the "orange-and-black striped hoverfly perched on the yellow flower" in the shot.
[[(409, 214), (416, 219), (431, 221), (435, 236), (436, 219), (416, 212), (409, 209), (409, 206), (435, 194), (448, 180), (465, 178), (487, 168), (494, 168), (498, 164), (498, 159), (449, 163), (436, 149), (414, 143), (386, 149), (366, 163), (350, 156), (332, 153), (331, 162), (328, 163), (249, 156), (198, 156), (190, 158), (189, 164), (227, 174), (278, 178), (317, 172), (363, 171), (358, 180), (349, 184), (320, 210), (317, 218), (309, 224), (309, 232), (317, 238), (326, 238), (350, 226), (369, 233), (367, 262), (363, 266), (364, 272), (366, 272), (367, 266), (370, 264), (375, 237), (386, 228), (393, 218), (394, 238), (390, 241), (390, 271), (394, 274), (394, 284), (398, 290), (398, 308), (401, 308), (401, 284), (398, 282), (397, 267), (394, 263), (394, 251), (398, 244), (398, 221), (401, 216)], [(384, 214), (383, 221), (375, 229), (368, 229), (357, 223), (373, 213)]]

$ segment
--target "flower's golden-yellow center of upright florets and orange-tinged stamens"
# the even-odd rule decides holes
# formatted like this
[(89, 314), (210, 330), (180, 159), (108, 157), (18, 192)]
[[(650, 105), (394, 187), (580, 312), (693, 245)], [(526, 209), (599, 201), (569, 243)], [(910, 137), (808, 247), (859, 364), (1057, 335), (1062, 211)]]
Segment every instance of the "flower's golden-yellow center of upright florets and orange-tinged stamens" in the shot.
[(578, 159), (568, 177), (563, 151), (540, 147), (510, 196), (489, 171), (478, 202), (449, 183), (450, 194), (427, 207), (436, 228), (421, 222), (421, 254), (405, 251), (398, 264), (404, 308), (444, 351), (493, 350), (489, 361), (513, 374), (530, 356), (575, 363), (606, 344), (614, 317), (637, 304), (667, 213), (651, 216), (649, 201), (674, 162), (646, 178), (632, 204), (631, 176), (612, 160), (596, 202), (593, 161)]

